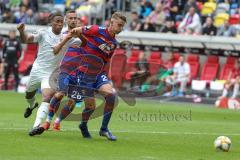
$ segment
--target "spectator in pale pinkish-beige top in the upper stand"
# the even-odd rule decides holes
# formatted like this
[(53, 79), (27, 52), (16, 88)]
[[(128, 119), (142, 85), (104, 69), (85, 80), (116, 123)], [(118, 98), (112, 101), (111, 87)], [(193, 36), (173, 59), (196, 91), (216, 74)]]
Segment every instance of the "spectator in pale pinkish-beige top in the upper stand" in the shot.
[(149, 18), (151, 24), (155, 26), (156, 31), (160, 31), (165, 21), (165, 13), (163, 12), (161, 3), (156, 4), (156, 8), (150, 13)]

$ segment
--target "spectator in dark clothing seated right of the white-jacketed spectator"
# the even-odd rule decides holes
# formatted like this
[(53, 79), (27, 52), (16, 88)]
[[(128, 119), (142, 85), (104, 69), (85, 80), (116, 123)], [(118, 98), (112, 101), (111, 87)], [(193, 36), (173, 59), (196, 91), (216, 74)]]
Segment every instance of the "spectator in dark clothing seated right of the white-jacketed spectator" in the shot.
[(217, 28), (213, 25), (211, 17), (207, 17), (205, 24), (203, 25), (202, 35), (215, 36), (217, 34)]

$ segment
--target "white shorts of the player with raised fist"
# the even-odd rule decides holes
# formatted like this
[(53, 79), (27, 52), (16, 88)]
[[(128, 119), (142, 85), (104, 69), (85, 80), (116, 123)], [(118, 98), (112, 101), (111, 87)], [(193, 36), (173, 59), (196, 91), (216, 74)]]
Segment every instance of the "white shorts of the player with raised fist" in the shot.
[(40, 70), (37, 69), (32, 69), (30, 73), (30, 78), (27, 83), (27, 89), (26, 92), (33, 92), (37, 90), (39, 87), (41, 87), (41, 90), (46, 89), (46, 88), (51, 88), (50, 83), (49, 83), (49, 78), (51, 72), (41, 72)]

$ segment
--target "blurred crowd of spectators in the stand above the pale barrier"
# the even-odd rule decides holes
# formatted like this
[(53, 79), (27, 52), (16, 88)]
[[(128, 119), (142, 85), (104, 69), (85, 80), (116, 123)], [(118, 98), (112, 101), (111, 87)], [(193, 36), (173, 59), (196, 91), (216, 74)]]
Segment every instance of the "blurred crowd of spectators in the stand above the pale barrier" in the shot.
[(84, 25), (107, 25), (120, 10), (126, 30), (240, 37), (238, 0), (1, 0), (0, 22), (47, 25), (51, 11), (69, 9)]

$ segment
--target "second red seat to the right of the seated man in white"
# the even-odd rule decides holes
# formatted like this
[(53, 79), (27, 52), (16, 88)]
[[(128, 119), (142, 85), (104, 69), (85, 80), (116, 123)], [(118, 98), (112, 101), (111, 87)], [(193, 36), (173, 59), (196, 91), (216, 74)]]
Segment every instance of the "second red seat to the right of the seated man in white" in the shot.
[(218, 63), (205, 63), (201, 72), (201, 80), (212, 81), (216, 79), (218, 72)]

